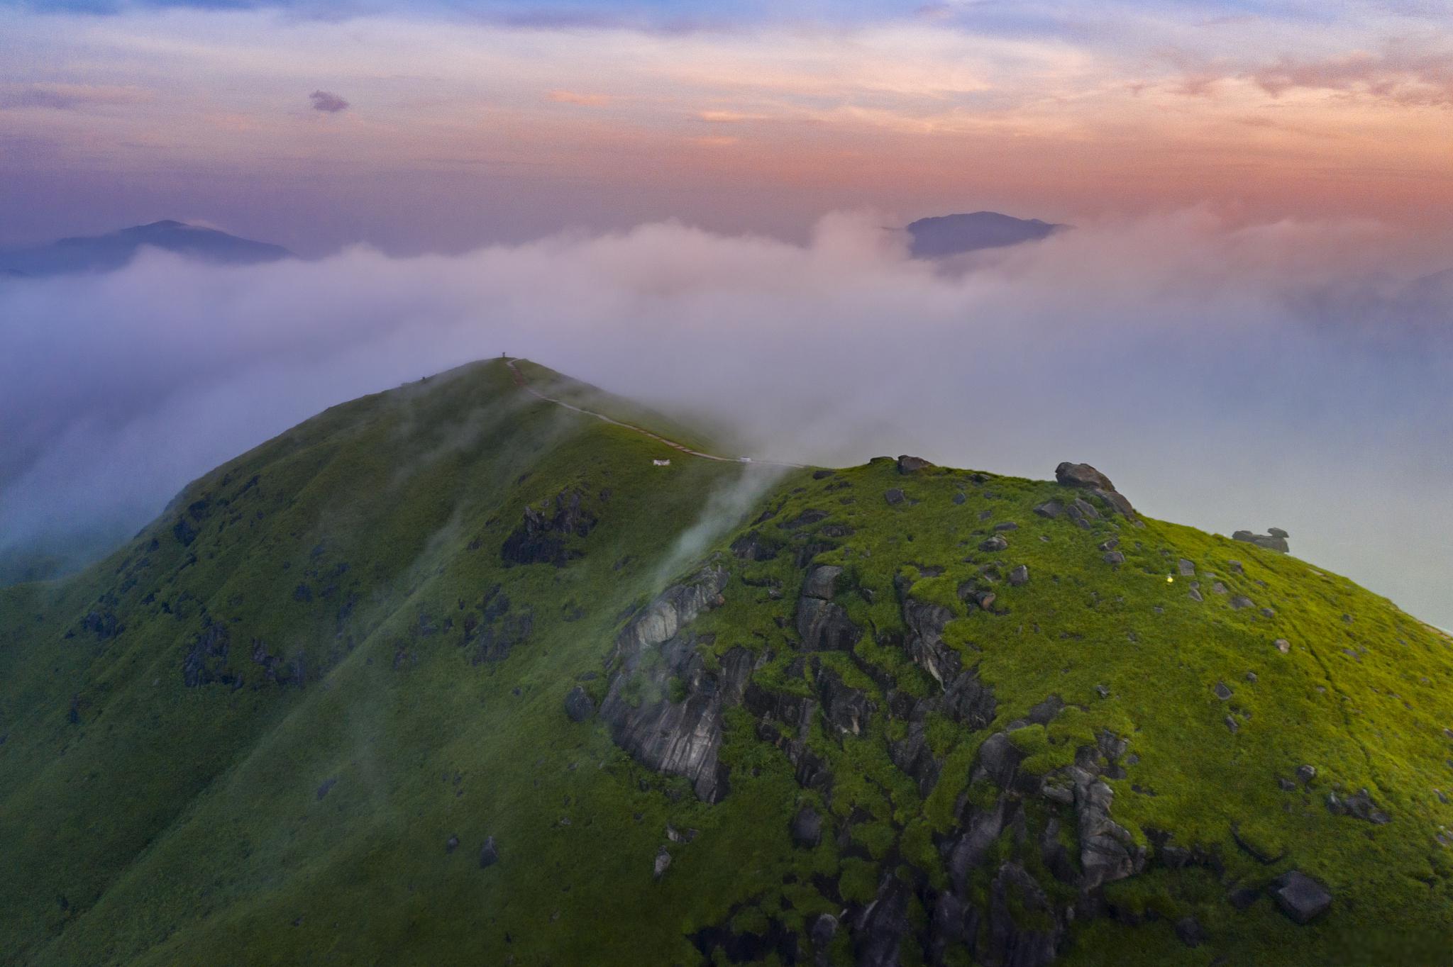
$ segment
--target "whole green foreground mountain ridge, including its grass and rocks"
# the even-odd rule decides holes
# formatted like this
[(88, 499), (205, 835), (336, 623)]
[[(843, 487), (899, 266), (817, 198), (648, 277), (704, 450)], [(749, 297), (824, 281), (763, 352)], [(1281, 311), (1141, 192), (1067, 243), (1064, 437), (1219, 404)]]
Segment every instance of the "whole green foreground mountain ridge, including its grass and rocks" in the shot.
[(1450, 695), (1295, 558), (478, 363), (0, 589), (0, 963), (1438, 964)]

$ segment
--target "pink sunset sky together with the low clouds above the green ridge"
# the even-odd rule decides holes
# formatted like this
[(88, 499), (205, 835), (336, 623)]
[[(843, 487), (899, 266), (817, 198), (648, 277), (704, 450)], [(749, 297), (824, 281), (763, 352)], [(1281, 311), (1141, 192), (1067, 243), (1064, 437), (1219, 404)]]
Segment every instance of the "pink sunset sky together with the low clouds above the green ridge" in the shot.
[[(1453, 627), (1444, 0), (0, 0), (0, 552), (501, 350), (744, 446), (1100, 466)], [(912, 218), (1074, 225), (952, 266)], [(80, 537), (77, 537), (80, 534)]]

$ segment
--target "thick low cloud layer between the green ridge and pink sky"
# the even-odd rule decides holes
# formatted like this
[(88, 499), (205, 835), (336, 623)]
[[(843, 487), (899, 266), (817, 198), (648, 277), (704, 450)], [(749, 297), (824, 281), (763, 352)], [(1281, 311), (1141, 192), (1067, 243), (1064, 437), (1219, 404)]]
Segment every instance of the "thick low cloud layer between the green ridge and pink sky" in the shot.
[[(679, 224), (459, 257), (352, 250), (0, 283), (0, 534), (129, 531), (324, 407), (500, 351), (728, 418), (750, 452), (1046, 478), (1293, 549), (1453, 624), (1453, 250), (1370, 224), (1082, 224), (949, 269), (898, 224)], [(1421, 256), (1418, 253), (1422, 253)]]

